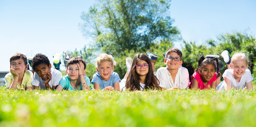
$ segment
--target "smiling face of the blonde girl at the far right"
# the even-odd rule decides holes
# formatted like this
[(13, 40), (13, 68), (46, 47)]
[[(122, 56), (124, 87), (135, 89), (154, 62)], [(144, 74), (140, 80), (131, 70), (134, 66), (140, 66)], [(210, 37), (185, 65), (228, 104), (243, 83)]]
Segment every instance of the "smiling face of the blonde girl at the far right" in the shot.
[(241, 78), (244, 75), (245, 69), (247, 68), (245, 60), (237, 59), (234, 60), (231, 68), (233, 69), (233, 75), (235, 78)]

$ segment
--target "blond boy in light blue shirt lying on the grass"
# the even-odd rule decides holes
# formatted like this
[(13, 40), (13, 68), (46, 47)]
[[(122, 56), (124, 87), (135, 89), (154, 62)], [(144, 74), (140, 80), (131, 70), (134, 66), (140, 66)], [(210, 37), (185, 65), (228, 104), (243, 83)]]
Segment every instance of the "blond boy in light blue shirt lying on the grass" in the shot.
[(120, 90), (119, 82), (121, 79), (117, 72), (113, 72), (113, 63), (113, 57), (105, 53), (100, 54), (96, 58), (97, 72), (93, 75), (92, 79), (94, 89)]

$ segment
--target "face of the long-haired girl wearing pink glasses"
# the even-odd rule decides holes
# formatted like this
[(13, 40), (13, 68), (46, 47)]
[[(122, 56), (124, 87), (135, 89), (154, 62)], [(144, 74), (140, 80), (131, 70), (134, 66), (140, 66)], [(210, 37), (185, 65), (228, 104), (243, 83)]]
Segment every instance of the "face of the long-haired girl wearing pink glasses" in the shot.
[[(139, 66), (141, 68), (139, 68)], [(139, 76), (146, 76), (148, 73), (148, 64), (144, 60), (139, 60), (136, 64), (136, 72)]]

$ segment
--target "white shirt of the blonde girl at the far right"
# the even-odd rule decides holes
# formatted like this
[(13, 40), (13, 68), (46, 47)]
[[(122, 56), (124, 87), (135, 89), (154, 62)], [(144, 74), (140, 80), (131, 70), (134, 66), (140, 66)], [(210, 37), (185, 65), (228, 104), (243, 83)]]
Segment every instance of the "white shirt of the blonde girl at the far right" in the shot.
[[(230, 80), (230, 88), (235, 88), (235, 89), (243, 89), (246, 86), (246, 83), (249, 83), (250, 81), (253, 80), (251, 71), (249, 69), (245, 70), (244, 75), (242, 75), (242, 77), (238, 83), (233, 75), (232, 69), (225, 70), (222, 77), (224, 79), (225, 79), (225, 77), (228, 78)], [(222, 84), (220, 86), (220, 89), (224, 89), (224, 84)]]

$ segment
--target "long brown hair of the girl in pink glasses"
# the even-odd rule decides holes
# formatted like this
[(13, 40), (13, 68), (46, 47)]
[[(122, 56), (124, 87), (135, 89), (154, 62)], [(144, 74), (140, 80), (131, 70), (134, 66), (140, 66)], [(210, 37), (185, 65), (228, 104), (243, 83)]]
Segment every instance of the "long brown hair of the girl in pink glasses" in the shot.
[(153, 69), (152, 69), (150, 58), (148, 58), (143, 53), (138, 53), (137, 55), (135, 55), (125, 87), (128, 90), (141, 89), (141, 85), (139, 85), (140, 83), (139, 75), (136, 72), (136, 64), (139, 60), (144, 60), (148, 64), (148, 73), (145, 79), (145, 89), (160, 89), (159, 80), (156, 78), (156, 76), (153, 75)]

